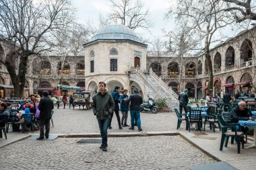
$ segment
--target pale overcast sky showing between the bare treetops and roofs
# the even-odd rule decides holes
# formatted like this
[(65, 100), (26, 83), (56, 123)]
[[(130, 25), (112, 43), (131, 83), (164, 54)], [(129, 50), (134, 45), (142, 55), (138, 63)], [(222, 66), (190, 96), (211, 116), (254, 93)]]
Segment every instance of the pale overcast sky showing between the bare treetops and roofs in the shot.
[[(86, 21), (90, 19), (91, 21), (98, 22), (100, 14), (106, 16), (110, 12), (109, 1), (108, 0), (71, 0), (73, 6), (76, 8), (77, 22), (86, 25)], [(176, 0), (141, 0), (143, 5), (149, 9), (150, 18), (154, 22), (154, 26), (150, 28), (150, 32), (146, 30), (136, 30), (137, 34), (143, 36), (143, 39), (154, 40), (154, 38), (162, 38), (162, 28), (166, 30), (173, 30), (174, 22), (170, 19), (165, 19), (164, 15), (168, 11), (168, 7), (175, 7)], [(232, 28), (224, 28), (222, 34), (228, 37), (233, 37), (241, 30), (236, 30)], [(216, 35), (218, 36), (218, 34)], [(223, 35), (222, 35), (223, 36)], [(225, 38), (225, 39), (226, 39)], [(212, 47), (218, 44), (212, 44)]]

